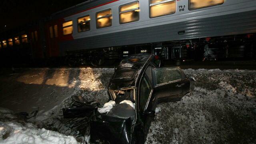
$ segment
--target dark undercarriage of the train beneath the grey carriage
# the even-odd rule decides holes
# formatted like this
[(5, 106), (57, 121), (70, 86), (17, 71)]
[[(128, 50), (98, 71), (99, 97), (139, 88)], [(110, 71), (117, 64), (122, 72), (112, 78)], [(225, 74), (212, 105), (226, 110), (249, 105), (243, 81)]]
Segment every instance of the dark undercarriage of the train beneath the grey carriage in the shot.
[(151, 53), (165, 61), (244, 61), (256, 59), (256, 35), (241, 34), (66, 52), (70, 66), (113, 64), (131, 54)]

